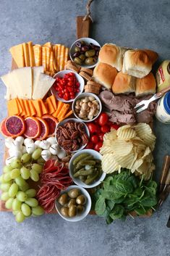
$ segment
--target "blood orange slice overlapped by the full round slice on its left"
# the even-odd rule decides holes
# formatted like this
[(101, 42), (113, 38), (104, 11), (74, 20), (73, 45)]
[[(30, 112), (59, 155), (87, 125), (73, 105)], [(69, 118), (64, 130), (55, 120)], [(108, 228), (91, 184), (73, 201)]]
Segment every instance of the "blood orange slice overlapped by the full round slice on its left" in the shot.
[(35, 117), (25, 118), (25, 137), (30, 139), (35, 139), (40, 136), (41, 133), (41, 124)]

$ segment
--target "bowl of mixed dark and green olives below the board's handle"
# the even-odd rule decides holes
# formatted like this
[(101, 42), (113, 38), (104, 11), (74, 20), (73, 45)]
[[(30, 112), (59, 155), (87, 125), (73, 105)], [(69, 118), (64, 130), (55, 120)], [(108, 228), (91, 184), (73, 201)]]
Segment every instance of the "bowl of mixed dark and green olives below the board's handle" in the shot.
[(92, 68), (98, 62), (98, 53), (101, 49), (100, 44), (93, 38), (77, 39), (69, 49), (69, 57), (81, 67)]

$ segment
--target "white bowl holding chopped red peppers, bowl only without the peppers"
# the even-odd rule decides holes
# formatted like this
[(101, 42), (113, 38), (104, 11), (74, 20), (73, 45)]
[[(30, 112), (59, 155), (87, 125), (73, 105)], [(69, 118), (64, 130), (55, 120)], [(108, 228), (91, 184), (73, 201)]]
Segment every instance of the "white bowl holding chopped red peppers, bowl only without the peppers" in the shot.
[[(65, 74), (68, 74), (70, 72), (75, 74), (77, 81), (80, 83), (80, 91), (76, 94), (76, 96), (78, 96), (79, 94), (82, 93), (82, 91), (84, 90), (84, 86), (85, 86), (85, 80), (82, 78), (81, 75), (79, 75), (78, 73), (76, 73), (75, 71), (72, 71), (72, 70), (61, 70), (54, 75), (54, 78), (63, 78)], [(61, 99), (59, 97), (59, 95), (57, 94), (54, 86), (51, 87), (51, 94), (53, 94), (56, 97), (56, 99), (58, 99), (60, 102), (73, 102), (74, 101), (74, 99), (69, 99), (67, 101), (65, 99)]]

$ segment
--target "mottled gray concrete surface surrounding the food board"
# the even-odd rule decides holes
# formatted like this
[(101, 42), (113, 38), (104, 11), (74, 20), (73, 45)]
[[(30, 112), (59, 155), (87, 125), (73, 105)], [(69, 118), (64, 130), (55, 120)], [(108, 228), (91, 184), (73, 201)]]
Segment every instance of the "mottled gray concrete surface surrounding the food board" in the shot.
[[(9, 47), (32, 40), (70, 46), (75, 40), (75, 17), (85, 14), (86, 1), (0, 0), (0, 75), (11, 67)], [(95, 0), (91, 36), (101, 44), (158, 51), (170, 58), (170, 4), (168, 0)], [(1, 83), (1, 82), (0, 82)], [(5, 88), (0, 84), (0, 119), (6, 116)], [(170, 154), (169, 126), (155, 123), (155, 161), (159, 177), (163, 155)], [(1, 141), (1, 166), (4, 141)], [(102, 218), (88, 216), (68, 223), (58, 215), (30, 218), (17, 224), (11, 213), (0, 212), (2, 256), (168, 256), (166, 228), (170, 198), (152, 218), (128, 218), (106, 226)]]

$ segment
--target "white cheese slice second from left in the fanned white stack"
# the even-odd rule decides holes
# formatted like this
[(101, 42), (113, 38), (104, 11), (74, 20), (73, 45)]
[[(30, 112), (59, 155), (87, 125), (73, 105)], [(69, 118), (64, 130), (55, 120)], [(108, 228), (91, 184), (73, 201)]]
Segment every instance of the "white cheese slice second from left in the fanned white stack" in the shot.
[(13, 70), (14, 77), (17, 80), (19, 90), (19, 98), (22, 99), (31, 99), (33, 91), (33, 78), (31, 67), (21, 67), (17, 70)]

